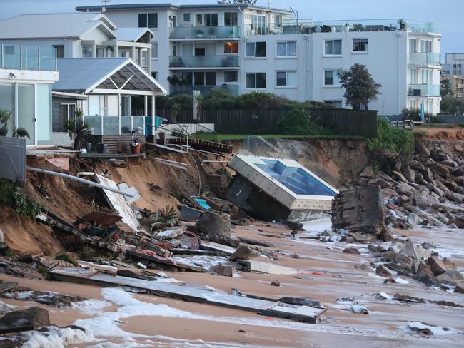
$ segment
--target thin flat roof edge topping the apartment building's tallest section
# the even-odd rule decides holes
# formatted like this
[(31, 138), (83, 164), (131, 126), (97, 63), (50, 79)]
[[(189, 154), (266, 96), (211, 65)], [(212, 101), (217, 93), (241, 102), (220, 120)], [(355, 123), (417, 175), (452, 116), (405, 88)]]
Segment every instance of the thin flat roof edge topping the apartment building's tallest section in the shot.
[(102, 8), (107, 10), (126, 10), (126, 9), (226, 9), (249, 7), (251, 9), (260, 9), (263, 11), (278, 11), (291, 13), (286, 9), (273, 9), (265, 6), (245, 5), (245, 4), (198, 4), (198, 5), (174, 5), (174, 4), (119, 4), (119, 5), (106, 5), (106, 6), (77, 6), (76, 11), (81, 12), (97, 12)]

